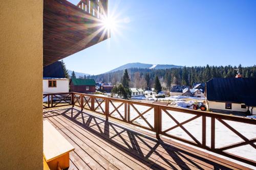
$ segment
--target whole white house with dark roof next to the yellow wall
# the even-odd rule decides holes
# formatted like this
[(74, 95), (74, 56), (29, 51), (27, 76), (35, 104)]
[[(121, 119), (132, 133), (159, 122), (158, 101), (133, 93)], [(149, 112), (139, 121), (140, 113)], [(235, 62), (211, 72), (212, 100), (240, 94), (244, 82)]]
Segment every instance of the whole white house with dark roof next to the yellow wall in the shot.
[(69, 79), (65, 74), (60, 61), (44, 67), (42, 78), (43, 93), (69, 92)]

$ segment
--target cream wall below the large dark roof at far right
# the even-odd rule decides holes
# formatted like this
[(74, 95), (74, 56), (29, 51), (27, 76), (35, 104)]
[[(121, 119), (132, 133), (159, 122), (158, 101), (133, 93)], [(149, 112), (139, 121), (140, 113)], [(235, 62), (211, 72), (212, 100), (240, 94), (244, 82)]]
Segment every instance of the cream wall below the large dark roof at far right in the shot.
[(225, 102), (212, 102), (212, 101), (208, 101), (209, 109), (220, 109), (220, 110), (246, 112), (248, 107), (241, 108), (241, 105), (242, 104), (232, 103), (232, 109), (225, 109)]

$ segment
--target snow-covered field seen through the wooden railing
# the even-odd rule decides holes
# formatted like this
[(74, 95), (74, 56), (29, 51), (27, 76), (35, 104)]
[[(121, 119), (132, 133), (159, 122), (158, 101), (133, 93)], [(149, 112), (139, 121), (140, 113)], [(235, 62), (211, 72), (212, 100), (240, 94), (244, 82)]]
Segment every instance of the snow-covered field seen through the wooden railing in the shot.
[[(180, 99), (177, 99), (177, 105), (180, 106), (181, 101)], [(179, 102), (180, 101), (180, 102)], [(186, 103), (190, 104), (190, 100), (186, 101)], [(118, 107), (121, 103), (120, 102), (113, 102), (113, 104), (115, 105), (115, 107)], [(97, 104), (95, 103), (95, 107), (97, 107)], [(183, 105), (183, 104), (182, 104)], [(142, 105), (137, 105), (134, 104), (134, 106), (136, 107), (136, 109), (138, 109), (140, 111), (140, 113), (146, 111), (147, 109), (149, 109), (150, 107), (147, 106), (142, 106)], [(104, 103), (101, 104), (101, 107), (104, 109)], [(131, 113), (131, 120), (133, 118), (135, 118), (136, 116), (138, 116), (138, 113), (136, 112), (136, 110), (131, 106), (130, 107), (130, 113)], [(114, 107), (112, 106), (112, 104), (110, 104), (110, 113), (114, 110)], [(97, 109), (97, 111), (102, 112), (100, 108)], [(118, 111), (121, 113), (121, 115), (124, 117), (124, 105), (122, 105)], [(181, 113), (181, 112), (175, 112), (175, 111), (168, 111), (175, 119), (178, 120), (178, 122), (184, 122), (185, 120), (194, 117), (195, 115), (192, 114), (188, 114), (188, 113)], [(117, 117), (117, 118), (121, 118), (121, 116), (117, 113), (117, 111), (115, 111), (114, 113), (112, 113), (112, 116)], [(144, 118), (147, 120), (147, 122), (154, 127), (154, 109), (151, 109), (150, 111), (148, 111), (147, 113), (145, 113)], [(229, 120), (224, 120), (227, 124), (229, 124), (231, 127), (233, 127), (234, 129), (236, 129), (238, 132), (240, 132), (242, 135), (244, 135), (245, 137), (247, 137), (248, 139), (252, 139), (256, 137), (256, 125), (247, 125), (244, 123), (237, 123), (237, 122), (232, 122)], [(134, 120), (135, 124), (139, 124), (145, 127), (150, 128), (150, 126), (147, 125), (147, 123), (141, 118), (137, 118), (136, 120)], [(206, 145), (210, 146), (210, 118), (206, 118)], [(166, 130), (168, 128), (171, 128), (173, 126), (175, 126), (176, 123), (165, 113), (162, 111), (162, 130)], [(202, 142), (202, 117), (198, 117), (194, 120), (192, 120), (191, 122), (183, 125), (184, 128), (186, 128), (193, 136), (195, 136), (200, 142)], [(215, 140), (216, 140), (216, 148), (219, 147), (223, 147), (225, 145), (228, 144), (232, 144), (232, 143), (236, 143), (236, 142), (240, 142), (243, 141), (239, 136), (237, 136), (236, 134), (234, 134), (232, 131), (230, 131), (228, 128), (226, 128), (223, 124), (221, 124), (217, 119), (216, 119), (216, 136), (215, 136)], [(139, 128), (141, 129), (141, 128)], [(177, 137), (181, 137), (190, 141), (193, 141), (193, 139), (191, 139), (180, 127), (175, 128), (171, 131), (167, 132), (168, 134), (177, 136)], [(166, 137), (167, 138), (167, 137)], [(174, 139), (172, 139), (174, 140)], [(177, 140), (175, 140), (177, 141)], [(179, 141), (180, 142), (180, 141)], [(183, 142), (181, 142), (183, 143)], [(189, 145), (186, 143), (183, 143), (185, 145)], [(197, 148), (194, 146), (189, 145), (190, 147), (193, 148)], [(199, 149), (199, 148), (197, 148)], [(199, 150), (203, 150), (203, 149), (199, 149)], [(204, 152), (208, 152), (211, 153), (209, 151), (205, 151)], [(230, 150), (226, 150), (226, 152), (234, 154), (234, 155), (238, 155), (238, 156), (242, 156), (248, 159), (252, 159), (252, 160), (256, 160), (256, 152), (252, 152), (255, 151), (254, 148), (252, 148), (250, 145), (244, 145), (242, 147), (238, 147), (235, 149), (230, 149)], [(215, 154), (215, 153), (211, 153), (212, 155), (217, 155), (218, 157), (222, 157), (228, 160), (231, 160), (233, 162), (237, 162), (239, 164), (243, 164), (246, 165), (248, 167), (251, 167), (253, 169), (256, 169), (256, 167), (251, 166), (251, 165), (247, 165), (245, 163), (242, 162), (238, 162), (236, 160), (232, 160), (230, 158)]]

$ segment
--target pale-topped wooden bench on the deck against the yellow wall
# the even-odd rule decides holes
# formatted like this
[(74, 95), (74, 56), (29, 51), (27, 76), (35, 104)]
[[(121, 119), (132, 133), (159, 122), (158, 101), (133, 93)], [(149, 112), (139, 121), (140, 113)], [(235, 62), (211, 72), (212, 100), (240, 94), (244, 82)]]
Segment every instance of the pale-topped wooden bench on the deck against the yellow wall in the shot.
[(69, 153), (75, 148), (49, 122), (44, 120), (44, 158), (51, 170), (69, 167)]

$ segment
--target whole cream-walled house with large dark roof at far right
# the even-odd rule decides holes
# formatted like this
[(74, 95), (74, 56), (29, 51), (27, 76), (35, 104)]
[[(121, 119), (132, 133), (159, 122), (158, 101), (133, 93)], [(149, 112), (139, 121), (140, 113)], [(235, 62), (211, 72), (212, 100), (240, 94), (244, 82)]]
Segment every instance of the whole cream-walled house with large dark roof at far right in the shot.
[(213, 78), (206, 83), (207, 108), (232, 114), (256, 114), (255, 78)]

